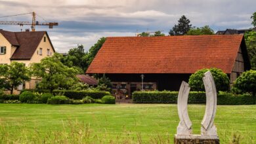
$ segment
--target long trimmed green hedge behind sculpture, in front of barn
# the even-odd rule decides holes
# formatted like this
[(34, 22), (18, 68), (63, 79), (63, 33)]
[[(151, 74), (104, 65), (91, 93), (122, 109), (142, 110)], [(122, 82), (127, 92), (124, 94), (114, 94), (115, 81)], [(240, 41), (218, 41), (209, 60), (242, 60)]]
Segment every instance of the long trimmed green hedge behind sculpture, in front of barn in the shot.
[[(133, 103), (177, 103), (179, 92), (171, 91), (152, 91), (152, 92), (133, 92)], [(205, 92), (190, 92), (188, 103), (205, 103)], [(235, 96), (234, 94), (221, 92), (217, 96), (218, 105), (253, 105), (256, 98), (243, 94)]]

